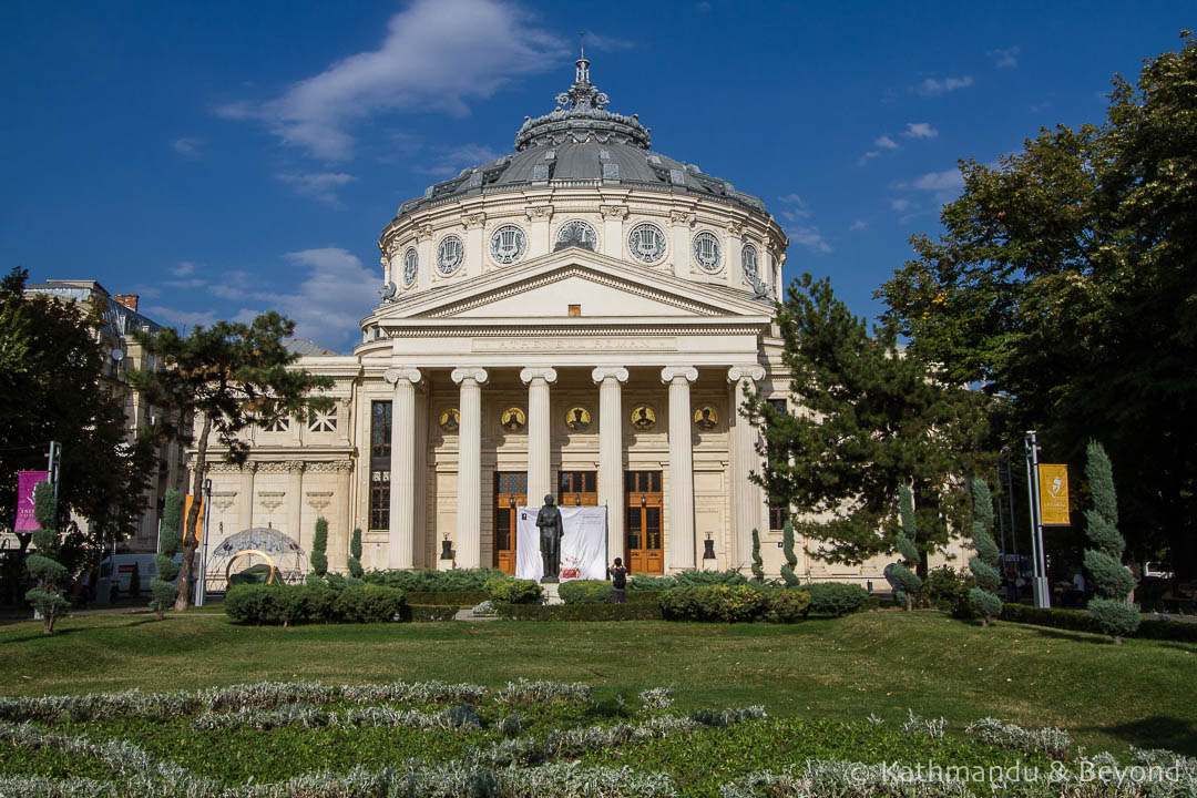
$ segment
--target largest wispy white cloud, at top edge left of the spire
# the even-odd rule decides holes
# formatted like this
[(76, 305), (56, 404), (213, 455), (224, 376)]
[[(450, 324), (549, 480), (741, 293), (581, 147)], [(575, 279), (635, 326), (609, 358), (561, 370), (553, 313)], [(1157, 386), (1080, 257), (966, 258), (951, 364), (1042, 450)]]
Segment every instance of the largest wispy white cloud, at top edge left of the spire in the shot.
[(415, 0), (393, 16), (377, 50), (342, 59), (265, 102), (217, 109), (261, 120), (288, 145), (326, 159), (353, 152), (354, 122), (414, 110), (468, 112), (512, 78), (543, 72), (566, 49), (529, 14), (499, 0)]

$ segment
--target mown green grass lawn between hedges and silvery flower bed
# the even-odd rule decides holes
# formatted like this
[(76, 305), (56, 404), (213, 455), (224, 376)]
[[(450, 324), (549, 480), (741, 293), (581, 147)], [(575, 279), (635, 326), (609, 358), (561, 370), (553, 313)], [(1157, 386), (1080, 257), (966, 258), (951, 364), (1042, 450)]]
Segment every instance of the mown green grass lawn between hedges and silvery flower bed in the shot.
[(762, 703), (773, 718), (900, 725), (907, 709), (959, 732), (986, 715), (1059, 726), (1098, 749), (1197, 754), (1197, 645), (937, 613), (864, 613), (794, 626), (674, 622), (241, 627), (219, 615), (67, 619), (0, 627), (0, 695), (195, 689), (257, 681), (517, 677), (585, 682), (596, 698), (670, 686), (676, 708)]

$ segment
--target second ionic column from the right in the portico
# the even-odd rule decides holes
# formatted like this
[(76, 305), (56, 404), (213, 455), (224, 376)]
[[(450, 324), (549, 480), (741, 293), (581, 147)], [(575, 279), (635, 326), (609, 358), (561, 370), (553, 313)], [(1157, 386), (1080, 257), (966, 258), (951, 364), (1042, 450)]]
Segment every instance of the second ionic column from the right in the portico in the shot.
[(661, 382), (669, 385), (669, 567), (693, 568), (694, 452), (691, 440), (689, 384), (693, 366), (666, 366)]

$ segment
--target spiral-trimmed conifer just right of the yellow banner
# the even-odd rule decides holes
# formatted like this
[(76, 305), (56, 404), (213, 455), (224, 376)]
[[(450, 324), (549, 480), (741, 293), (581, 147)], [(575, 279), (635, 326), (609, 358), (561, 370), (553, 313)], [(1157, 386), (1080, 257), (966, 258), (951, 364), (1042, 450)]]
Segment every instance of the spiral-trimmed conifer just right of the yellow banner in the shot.
[(1119, 644), (1124, 634), (1138, 628), (1138, 608), (1128, 602), (1135, 590), (1135, 575), (1122, 564), (1126, 542), (1118, 531), (1113, 467), (1096, 440), (1089, 441), (1084, 453), (1084, 476), (1093, 491), (1093, 507), (1084, 512), (1084, 532), (1096, 547), (1084, 550), (1084, 569), (1096, 593), (1089, 599), (1089, 613), (1101, 631)]

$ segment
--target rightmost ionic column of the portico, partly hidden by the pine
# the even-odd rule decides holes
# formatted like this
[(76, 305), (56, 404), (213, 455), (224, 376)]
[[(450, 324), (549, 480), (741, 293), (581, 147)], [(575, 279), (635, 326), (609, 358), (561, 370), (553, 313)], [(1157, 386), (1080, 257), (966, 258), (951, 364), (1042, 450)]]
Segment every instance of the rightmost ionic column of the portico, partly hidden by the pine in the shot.
[(759, 528), (761, 507), (766, 504), (765, 491), (748, 479), (751, 471), (761, 473), (760, 455), (757, 453), (758, 433), (740, 414), (748, 391), (764, 378), (765, 368), (755, 363), (728, 368), (728, 382), (734, 385), (728, 424), (731, 426), (731, 512), (735, 518), (731, 540), (736, 568), (743, 568), (752, 561), (752, 530), (755, 528), (761, 535), (768, 531)]

